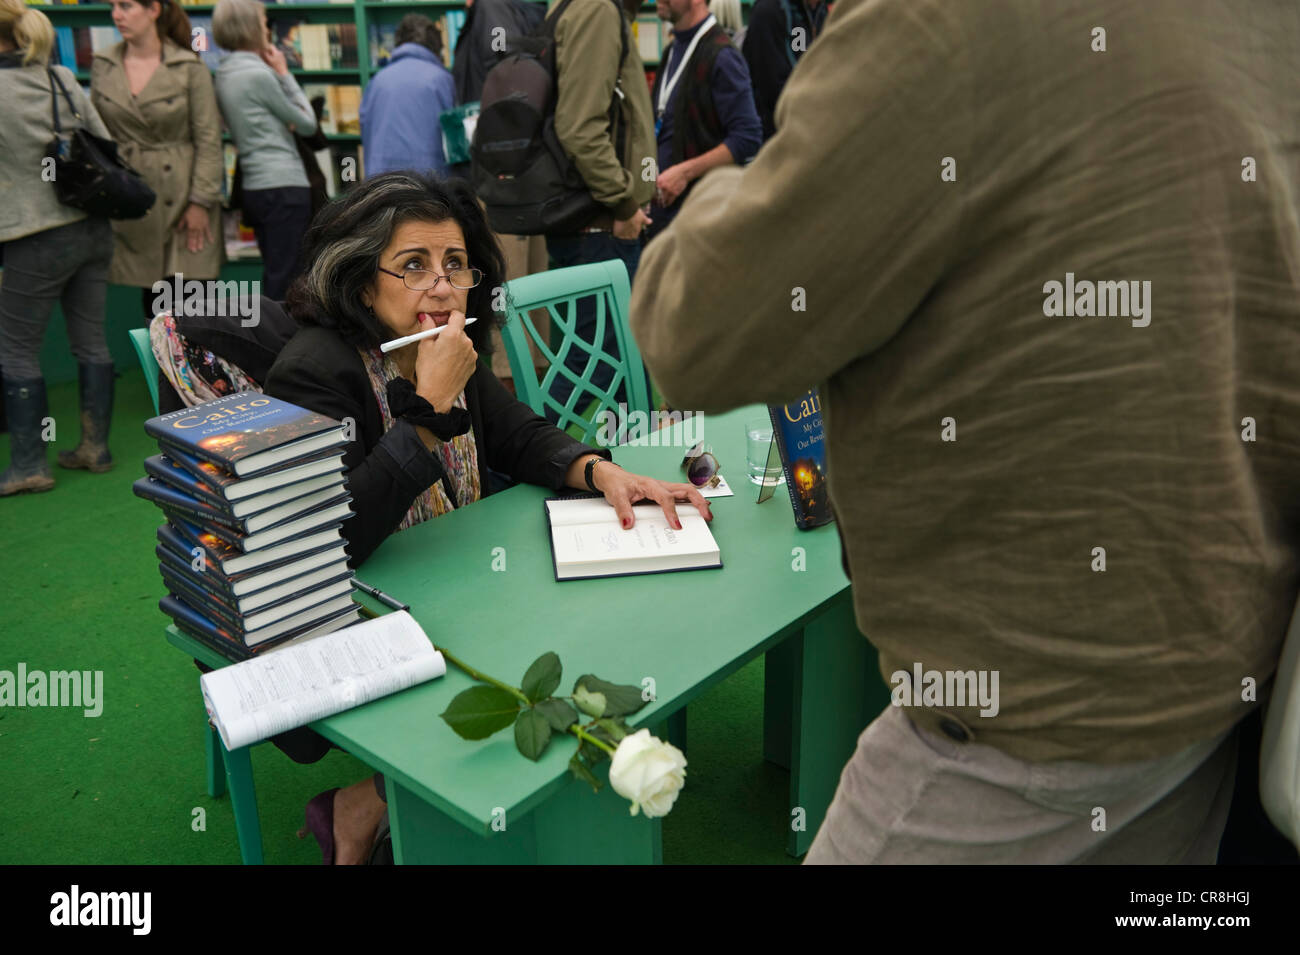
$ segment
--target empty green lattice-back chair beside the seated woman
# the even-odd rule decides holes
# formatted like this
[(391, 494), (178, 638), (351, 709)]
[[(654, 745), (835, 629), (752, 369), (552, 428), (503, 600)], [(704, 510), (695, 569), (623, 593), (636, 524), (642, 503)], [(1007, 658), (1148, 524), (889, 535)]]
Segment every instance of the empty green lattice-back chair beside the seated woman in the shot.
[[(502, 329), (502, 340), (506, 343), (506, 356), (510, 359), (519, 400), (542, 416), (550, 409), (558, 416), (560, 429), (572, 427), (569, 433), (588, 444), (594, 443), (601, 425), (601, 412), (619, 413), (616, 395), (620, 385), (627, 390), (629, 412), (653, 411), (641, 351), (628, 329), (628, 300), (632, 298), (632, 287), (628, 283), (628, 269), (620, 259), (515, 278), (506, 283), (506, 327)], [(594, 344), (584, 342), (573, 329), (577, 300), (585, 296), (595, 296)], [(530, 312), (537, 308), (546, 309), (552, 329), (559, 333), (551, 337), (558, 339), (555, 348), (551, 347), (551, 342), (542, 338), (533, 324)], [(614, 324), (621, 359), (610, 355), (602, 347), (610, 322)], [(529, 353), (529, 342), (550, 365), (540, 381)], [(575, 350), (586, 352), (586, 366), (581, 376), (564, 366), (566, 357)], [(614, 378), (607, 388), (601, 388), (593, 382), (595, 370), (602, 364), (614, 368)], [(573, 383), (573, 391), (563, 405), (550, 395), (551, 382), (558, 376)], [(621, 439), (620, 435), (619, 442)]]

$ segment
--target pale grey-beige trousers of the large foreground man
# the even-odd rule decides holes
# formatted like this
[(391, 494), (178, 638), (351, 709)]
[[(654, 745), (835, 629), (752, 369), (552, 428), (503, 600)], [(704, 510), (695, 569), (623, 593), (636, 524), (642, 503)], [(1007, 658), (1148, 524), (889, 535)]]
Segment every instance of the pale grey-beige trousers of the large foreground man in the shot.
[(1213, 865), (1235, 769), (1235, 728), (1143, 763), (1026, 763), (888, 707), (858, 738), (805, 863)]

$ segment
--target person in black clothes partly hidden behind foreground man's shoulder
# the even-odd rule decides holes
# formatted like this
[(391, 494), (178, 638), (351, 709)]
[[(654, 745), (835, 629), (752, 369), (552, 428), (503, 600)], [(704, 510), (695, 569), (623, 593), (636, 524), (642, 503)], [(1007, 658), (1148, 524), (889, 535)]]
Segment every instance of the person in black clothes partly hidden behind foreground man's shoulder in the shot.
[(785, 81), (822, 32), (826, 17), (827, 0), (754, 0), (741, 52), (754, 82), (764, 143), (776, 133), (776, 100)]

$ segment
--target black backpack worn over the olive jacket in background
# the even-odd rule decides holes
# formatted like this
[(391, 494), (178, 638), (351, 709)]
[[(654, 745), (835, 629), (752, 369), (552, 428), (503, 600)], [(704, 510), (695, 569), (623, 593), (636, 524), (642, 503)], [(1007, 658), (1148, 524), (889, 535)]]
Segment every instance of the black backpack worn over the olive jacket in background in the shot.
[[(623, 53), (628, 25), (619, 0)], [(469, 146), (471, 175), (488, 208), (493, 231), (507, 235), (575, 233), (606, 207), (592, 197), (577, 166), (555, 135), (555, 25), (571, 0), (563, 0), (536, 31), (511, 38), (510, 53), (488, 71), (478, 122)], [(610, 129), (623, 161), (623, 90), (616, 81), (610, 101)]]

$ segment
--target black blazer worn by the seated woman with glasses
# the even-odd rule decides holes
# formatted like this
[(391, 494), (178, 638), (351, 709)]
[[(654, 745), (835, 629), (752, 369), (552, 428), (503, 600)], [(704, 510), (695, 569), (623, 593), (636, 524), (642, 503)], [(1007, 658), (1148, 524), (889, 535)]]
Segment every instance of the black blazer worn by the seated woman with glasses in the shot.
[[(264, 391), (332, 418), (356, 422), (355, 439), (343, 453), (354, 511), (343, 521), (343, 537), (348, 565), (360, 567), (396, 530), (416, 496), (442, 479), (441, 461), (408, 421), (399, 418), (384, 433), (361, 356), (329, 329), (300, 329), (272, 365)], [(608, 451), (588, 447), (536, 414), (482, 363), (465, 383), (465, 405), (473, 422), (484, 495), (490, 489), (489, 468), (558, 491), (578, 455), (610, 457)]]

